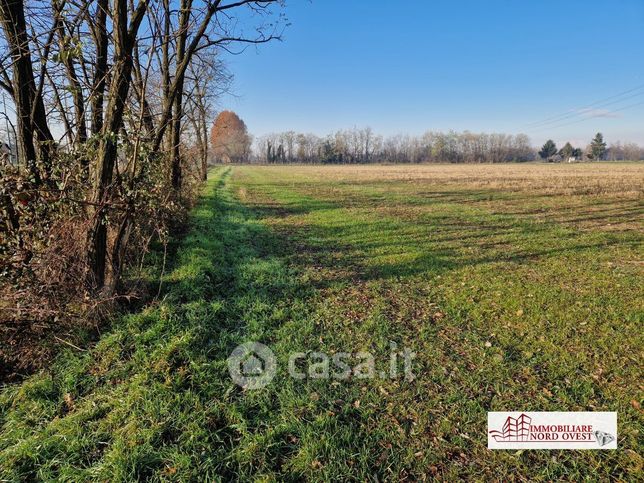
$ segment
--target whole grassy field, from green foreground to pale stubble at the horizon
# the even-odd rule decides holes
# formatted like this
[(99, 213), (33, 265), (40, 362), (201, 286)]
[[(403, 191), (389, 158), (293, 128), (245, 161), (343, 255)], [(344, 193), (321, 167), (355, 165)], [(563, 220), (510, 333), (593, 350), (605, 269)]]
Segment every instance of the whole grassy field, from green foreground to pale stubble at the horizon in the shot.
[[(232, 167), (158, 303), (0, 395), (0, 480), (636, 480), (644, 165)], [(266, 388), (226, 359), (275, 352)], [(413, 381), (293, 352), (416, 353)], [(380, 368), (380, 367), (379, 367)], [(616, 451), (489, 451), (487, 411), (618, 411)]]

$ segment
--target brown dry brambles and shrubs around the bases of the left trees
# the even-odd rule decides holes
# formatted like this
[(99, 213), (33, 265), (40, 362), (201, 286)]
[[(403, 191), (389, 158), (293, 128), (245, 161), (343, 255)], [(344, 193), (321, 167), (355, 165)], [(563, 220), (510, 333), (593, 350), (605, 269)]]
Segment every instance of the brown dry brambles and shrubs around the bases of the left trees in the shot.
[[(115, 310), (145, 297), (137, 276), (153, 241), (166, 243), (185, 219), (195, 193), (195, 177), (187, 176), (180, 196), (173, 194), (159, 157), (136, 184), (121, 178), (111, 193), (108, 273), (116, 229), (130, 203), (132, 229), (124, 253), (125, 283), (115, 293), (86, 289), (86, 237), (91, 223), (89, 183), (81, 175), (76, 156), (61, 156), (56, 185), (34, 188), (28, 175), (15, 167), (0, 171), (3, 210), (6, 203), (20, 218), (19, 230), (0, 226), (0, 383), (44, 367), (57, 347), (83, 350), (88, 336)], [(135, 186), (135, 189), (131, 189)]]

